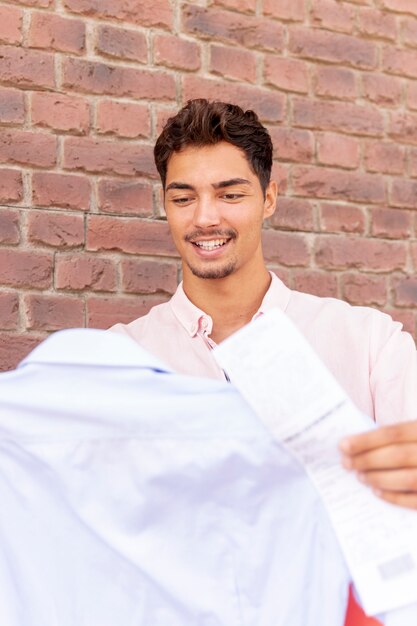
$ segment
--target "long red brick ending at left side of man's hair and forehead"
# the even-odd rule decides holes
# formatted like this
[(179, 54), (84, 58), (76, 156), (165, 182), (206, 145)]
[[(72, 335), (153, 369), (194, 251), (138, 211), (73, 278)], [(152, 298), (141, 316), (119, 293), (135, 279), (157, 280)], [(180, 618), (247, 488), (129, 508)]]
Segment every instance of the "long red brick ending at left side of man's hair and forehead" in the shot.
[(67, 137), (64, 143), (64, 167), (127, 176), (154, 176), (152, 147), (91, 137)]

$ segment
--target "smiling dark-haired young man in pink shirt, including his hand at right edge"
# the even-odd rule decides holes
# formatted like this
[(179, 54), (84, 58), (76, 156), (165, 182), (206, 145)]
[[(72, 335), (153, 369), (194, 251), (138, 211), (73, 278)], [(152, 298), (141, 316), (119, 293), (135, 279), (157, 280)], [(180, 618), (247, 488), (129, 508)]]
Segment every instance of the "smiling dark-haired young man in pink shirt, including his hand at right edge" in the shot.
[(222, 378), (212, 347), (281, 308), (357, 406), (384, 425), (342, 442), (346, 467), (385, 500), (417, 509), (414, 342), (383, 313), (293, 292), (267, 271), (261, 228), (277, 186), (271, 139), (256, 114), (191, 101), (168, 120), (155, 162), (183, 282), (170, 302), (112, 330), (179, 372)]

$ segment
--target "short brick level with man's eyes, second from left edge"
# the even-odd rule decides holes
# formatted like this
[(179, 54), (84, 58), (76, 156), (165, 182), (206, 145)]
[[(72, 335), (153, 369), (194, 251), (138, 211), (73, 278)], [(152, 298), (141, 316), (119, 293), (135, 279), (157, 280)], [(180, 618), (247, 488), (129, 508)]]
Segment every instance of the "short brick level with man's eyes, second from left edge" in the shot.
[(32, 189), (36, 206), (56, 206), (81, 211), (88, 211), (90, 208), (91, 183), (85, 176), (34, 172)]

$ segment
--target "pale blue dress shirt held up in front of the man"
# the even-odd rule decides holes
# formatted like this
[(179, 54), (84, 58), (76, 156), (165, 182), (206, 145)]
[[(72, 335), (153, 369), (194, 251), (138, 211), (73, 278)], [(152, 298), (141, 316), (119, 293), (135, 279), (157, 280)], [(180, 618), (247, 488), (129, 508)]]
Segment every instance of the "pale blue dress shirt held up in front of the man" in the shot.
[(304, 470), (229, 384), (114, 333), (0, 375), (1, 626), (343, 626)]

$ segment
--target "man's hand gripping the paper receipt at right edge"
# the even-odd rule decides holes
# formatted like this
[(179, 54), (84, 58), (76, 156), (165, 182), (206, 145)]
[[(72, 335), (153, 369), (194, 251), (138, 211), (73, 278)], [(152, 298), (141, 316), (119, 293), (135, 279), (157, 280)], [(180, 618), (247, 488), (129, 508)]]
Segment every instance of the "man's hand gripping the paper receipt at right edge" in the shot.
[(417, 422), (402, 422), (347, 437), (342, 464), (387, 502), (417, 509)]

